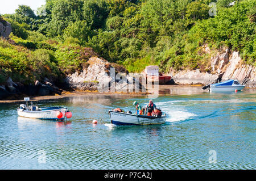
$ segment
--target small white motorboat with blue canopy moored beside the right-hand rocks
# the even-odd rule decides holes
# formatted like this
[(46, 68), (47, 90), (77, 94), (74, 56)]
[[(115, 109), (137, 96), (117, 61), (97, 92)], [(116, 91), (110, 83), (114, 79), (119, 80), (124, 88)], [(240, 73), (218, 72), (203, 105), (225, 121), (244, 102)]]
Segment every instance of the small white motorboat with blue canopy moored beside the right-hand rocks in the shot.
[(230, 79), (225, 82), (210, 84), (208, 86), (203, 87), (203, 89), (209, 88), (211, 92), (213, 91), (241, 91), (245, 85), (241, 85), (240, 82), (234, 79)]

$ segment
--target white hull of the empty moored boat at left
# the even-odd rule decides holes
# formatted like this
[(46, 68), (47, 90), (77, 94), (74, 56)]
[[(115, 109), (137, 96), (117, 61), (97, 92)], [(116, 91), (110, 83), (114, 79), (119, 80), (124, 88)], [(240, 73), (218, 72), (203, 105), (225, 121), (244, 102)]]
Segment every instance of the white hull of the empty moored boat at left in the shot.
[[(18, 115), (22, 117), (28, 117), (31, 119), (43, 119), (43, 120), (64, 120), (65, 111), (68, 110), (65, 108), (57, 109), (57, 110), (46, 110), (46, 111), (27, 111), (18, 109)], [(57, 113), (61, 112), (63, 116), (59, 119), (57, 118)]]

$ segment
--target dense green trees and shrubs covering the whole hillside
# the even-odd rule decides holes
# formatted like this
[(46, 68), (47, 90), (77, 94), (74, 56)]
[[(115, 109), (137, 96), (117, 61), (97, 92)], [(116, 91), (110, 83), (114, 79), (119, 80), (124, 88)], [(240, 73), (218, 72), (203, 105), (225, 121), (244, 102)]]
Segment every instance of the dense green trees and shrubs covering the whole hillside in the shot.
[[(209, 3), (217, 15), (209, 16)], [(38, 15), (19, 6), (12, 15), (12, 44), (0, 41), (0, 81), (56, 78), (89, 66), (91, 56), (118, 71), (147, 65), (209, 71), (203, 46), (238, 50), (247, 64), (256, 60), (256, 0), (46, 0)], [(50, 39), (51, 38), (51, 39)], [(15, 43), (14, 43), (15, 42)], [(90, 47), (90, 48), (85, 48)], [(97, 53), (95, 53), (95, 52)], [(42, 67), (42, 69), (38, 69)], [(36, 73), (36, 72), (39, 73)]]

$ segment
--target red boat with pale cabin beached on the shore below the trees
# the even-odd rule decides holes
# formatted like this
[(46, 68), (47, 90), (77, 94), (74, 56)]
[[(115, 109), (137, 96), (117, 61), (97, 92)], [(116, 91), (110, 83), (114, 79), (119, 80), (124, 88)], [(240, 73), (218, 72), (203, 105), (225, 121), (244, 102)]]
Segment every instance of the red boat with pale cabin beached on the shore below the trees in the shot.
[(159, 81), (159, 84), (163, 85), (171, 80), (171, 76), (159, 73), (159, 67), (157, 65), (146, 66), (144, 73), (146, 74), (147, 81), (150, 82)]

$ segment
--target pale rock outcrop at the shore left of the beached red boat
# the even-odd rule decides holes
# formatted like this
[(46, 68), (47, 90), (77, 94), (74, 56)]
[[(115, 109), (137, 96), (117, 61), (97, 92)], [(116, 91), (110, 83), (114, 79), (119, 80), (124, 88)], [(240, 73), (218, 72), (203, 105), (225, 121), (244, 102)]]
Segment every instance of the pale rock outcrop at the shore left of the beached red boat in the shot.
[[(113, 77), (113, 72), (111, 75), (110, 69), (114, 67), (108, 61), (101, 58), (91, 57), (87, 63), (89, 64), (88, 68), (84, 68), (81, 72), (76, 71), (73, 74), (67, 75), (64, 80), (65, 83), (75, 90), (99, 91), (99, 88), (106, 88), (104, 90), (106, 92), (111, 89), (110, 85), (112, 85), (114, 91), (127, 92), (129, 86), (132, 86), (137, 81), (128, 74), (121, 74), (122, 76), (119, 78), (118, 76)], [(114, 74), (116, 75), (117, 71)], [(102, 85), (106, 87), (101, 87)], [(135, 83), (134, 85), (133, 90), (142, 88), (140, 83)]]

